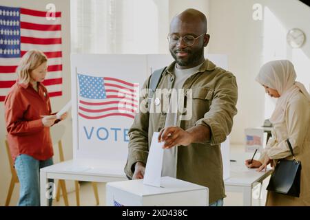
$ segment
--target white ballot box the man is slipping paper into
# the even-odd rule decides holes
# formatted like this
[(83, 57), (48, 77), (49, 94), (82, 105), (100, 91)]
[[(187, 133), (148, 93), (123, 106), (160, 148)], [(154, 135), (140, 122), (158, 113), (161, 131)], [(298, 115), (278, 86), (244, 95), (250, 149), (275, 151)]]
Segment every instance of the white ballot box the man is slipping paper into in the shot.
[(106, 185), (107, 206), (209, 206), (209, 188), (172, 177), (161, 177), (161, 187), (143, 179)]

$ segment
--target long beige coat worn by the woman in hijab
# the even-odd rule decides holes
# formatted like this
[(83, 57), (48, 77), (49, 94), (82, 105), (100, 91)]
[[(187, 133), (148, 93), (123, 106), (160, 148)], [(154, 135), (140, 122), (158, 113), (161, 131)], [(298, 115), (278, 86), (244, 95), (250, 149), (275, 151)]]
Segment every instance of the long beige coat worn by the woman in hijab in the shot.
[(273, 124), (269, 140), (260, 162), (268, 155), (270, 159), (293, 159), (285, 142), (291, 142), (296, 160), (302, 164), (300, 197), (291, 197), (268, 191), (266, 206), (310, 206), (310, 102), (302, 94), (296, 94), (285, 107), (285, 121)]

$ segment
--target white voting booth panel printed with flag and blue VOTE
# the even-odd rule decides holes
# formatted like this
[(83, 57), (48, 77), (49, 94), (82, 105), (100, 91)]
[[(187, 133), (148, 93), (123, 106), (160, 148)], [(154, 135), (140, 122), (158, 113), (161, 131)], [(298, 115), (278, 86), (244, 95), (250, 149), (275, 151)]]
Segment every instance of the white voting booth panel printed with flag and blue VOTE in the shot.
[(145, 57), (74, 54), (71, 61), (74, 159), (125, 165), (128, 130), (147, 77)]

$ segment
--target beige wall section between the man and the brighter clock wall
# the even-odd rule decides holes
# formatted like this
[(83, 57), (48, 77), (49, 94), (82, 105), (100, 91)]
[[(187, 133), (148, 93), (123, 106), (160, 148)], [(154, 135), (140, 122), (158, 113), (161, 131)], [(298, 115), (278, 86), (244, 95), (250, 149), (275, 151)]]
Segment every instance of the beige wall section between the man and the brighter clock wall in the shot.
[(242, 143), (245, 127), (263, 122), (264, 96), (254, 82), (262, 58), (262, 22), (252, 19), (252, 5), (256, 2), (211, 0), (209, 3), (209, 53), (228, 55), (228, 69), (238, 83), (238, 114), (231, 143)]

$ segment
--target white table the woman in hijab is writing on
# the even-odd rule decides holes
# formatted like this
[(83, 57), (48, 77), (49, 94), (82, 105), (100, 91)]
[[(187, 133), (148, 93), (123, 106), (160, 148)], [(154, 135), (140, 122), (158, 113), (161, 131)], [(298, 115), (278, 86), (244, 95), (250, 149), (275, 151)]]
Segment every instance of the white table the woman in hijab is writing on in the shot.
[(243, 206), (251, 206), (252, 190), (257, 184), (271, 175), (272, 170), (257, 172), (256, 168), (247, 168), (245, 165), (231, 163), (230, 177), (224, 181), (228, 192), (243, 192)]

